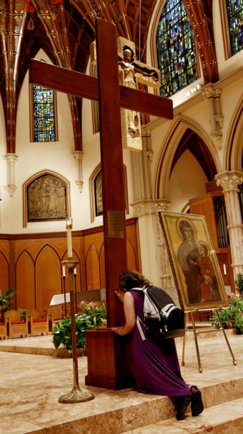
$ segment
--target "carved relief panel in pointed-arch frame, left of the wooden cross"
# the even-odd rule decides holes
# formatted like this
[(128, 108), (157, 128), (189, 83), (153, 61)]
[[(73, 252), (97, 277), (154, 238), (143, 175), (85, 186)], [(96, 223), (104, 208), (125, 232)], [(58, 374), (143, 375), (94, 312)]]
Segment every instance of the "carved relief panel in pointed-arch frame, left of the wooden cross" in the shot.
[(71, 215), (70, 183), (53, 170), (43, 169), (30, 176), (22, 191), (23, 227), (28, 221), (65, 220)]

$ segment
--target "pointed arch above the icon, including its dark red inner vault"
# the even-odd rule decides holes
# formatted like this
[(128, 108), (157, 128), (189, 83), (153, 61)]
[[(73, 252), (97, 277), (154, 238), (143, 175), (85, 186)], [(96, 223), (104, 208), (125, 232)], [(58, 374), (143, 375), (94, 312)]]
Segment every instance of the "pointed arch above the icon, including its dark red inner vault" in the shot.
[[(195, 150), (193, 150), (193, 143), (196, 143)], [(168, 131), (158, 158), (154, 183), (155, 198), (169, 198), (171, 172), (186, 149), (192, 150), (209, 181), (221, 171), (217, 149), (209, 135), (188, 117), (177, 116)], [(204, 166), (207, 166), (207, 170)]]

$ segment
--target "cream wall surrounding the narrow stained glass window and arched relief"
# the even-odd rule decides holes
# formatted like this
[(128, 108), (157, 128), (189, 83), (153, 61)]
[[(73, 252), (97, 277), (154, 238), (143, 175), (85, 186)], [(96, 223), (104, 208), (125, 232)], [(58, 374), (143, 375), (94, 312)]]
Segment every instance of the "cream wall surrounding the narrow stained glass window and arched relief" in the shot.
[[(43, 50), (38, 52), (36, 59), (43, 59), (51, 63)], [(3, 123), (3, 114), (0, 113), (0, 115), (1, 123)], [(72, 152), (74, 151), (73, 129), (66, 94), (57, 93), (57, 115), (59, 141), (30, 143), (29, 84), (27, 73), (21, 88), (17, 107), (16, 155), (19, 156), (15, 164), (15, 183), (17, 189), (12, 198), (4, 190), (1, 207), (2, 233), (65, 230), (65, 221), (31, 222), (27, 224), (27, 228), (23, 228), (22, 185), (26, 179), (43, 169), (58, 172), (70, 182), (73, 229), (82, 228), (82, 218), (80, 218), (80, 215), (82, 215), (81, 211), (84, 204), (82, 204), (82, 195), (78, 192), (77, 186), (74, 183), (76, 179), (76, 167), (72, 156)], [(6, 146), (2, 152), (6, 154)], [(6, 162), (4, 170), (1, 170), (1, 185), (4, 185), (6, 188), (7, 177), (6, 173), (4, 176), (2, 175), (3, 172), (6, 172)]]

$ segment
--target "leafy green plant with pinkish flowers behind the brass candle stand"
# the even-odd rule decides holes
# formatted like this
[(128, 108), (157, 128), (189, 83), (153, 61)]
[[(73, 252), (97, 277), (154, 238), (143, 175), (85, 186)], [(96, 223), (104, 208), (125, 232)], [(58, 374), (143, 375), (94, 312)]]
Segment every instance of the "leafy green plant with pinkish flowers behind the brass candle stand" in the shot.
[[(106, 327), (107, 314), (105, 304), (98, 306), (92, 302), (82, 301), (79, 308), (80, 312), (75, 315), (76, 344), (77, 348), (84, 348), (87, 343), (84, 332), (98, 327)], [(55, 348), (62, 344), (69, 352), (72, 352), (71, 317), (69, 315), (56, 323), (52, 334)]]

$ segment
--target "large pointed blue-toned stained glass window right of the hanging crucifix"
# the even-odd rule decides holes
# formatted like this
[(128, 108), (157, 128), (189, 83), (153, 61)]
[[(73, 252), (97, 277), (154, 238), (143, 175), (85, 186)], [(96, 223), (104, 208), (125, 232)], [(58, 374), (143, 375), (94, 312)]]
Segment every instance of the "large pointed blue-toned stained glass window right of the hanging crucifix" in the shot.
[(194, 37), (183, 0), (168, 0), (159, 19), (157, 59), (160, 94), (170, 97), (198, 78)]

